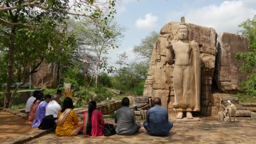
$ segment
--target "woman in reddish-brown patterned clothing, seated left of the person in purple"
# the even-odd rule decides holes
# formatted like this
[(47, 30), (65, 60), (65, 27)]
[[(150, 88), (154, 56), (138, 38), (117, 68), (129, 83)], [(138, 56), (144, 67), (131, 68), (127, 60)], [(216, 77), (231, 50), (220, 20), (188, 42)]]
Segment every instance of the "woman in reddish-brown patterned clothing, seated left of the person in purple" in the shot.
[(43, 93), (38, 93), (34, 103), (30, 108), (30, 114), (29, 114), (29, 119), (27, 120), (27, 123), (32, 123), (35, 120), (37, 106), (42, 100), (43, 100)]

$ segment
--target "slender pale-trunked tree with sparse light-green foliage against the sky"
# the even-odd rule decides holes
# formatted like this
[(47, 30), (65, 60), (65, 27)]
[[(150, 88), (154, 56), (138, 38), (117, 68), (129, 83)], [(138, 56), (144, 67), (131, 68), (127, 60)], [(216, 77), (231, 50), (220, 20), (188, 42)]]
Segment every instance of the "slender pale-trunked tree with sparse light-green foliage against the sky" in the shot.
[[(122, 32), (125, 30), (125, 28), (120, 27), (113, 19), (106, 21), (107, 23), (98, 22), (99, 25), (95, 25), (94, 21), (88, 19), (84, 22), (77, 22), (75, 25), (75, 34), (77, 35), (78, 41), (78, 49), (75, 51), (75, 56), (87, 64), (90, 64), (88, 61), (89, 56), (95, 57), (93, 62), (95, 64), (96, 88), (98, 86), (100, 69), (107, 70), (107, 57), (104, 55), (108, 54), (111, 48), (118, 48), (120, 38), (123, 37)], [(103, 25), (111, 31), (108, 36), (101, 31)]]

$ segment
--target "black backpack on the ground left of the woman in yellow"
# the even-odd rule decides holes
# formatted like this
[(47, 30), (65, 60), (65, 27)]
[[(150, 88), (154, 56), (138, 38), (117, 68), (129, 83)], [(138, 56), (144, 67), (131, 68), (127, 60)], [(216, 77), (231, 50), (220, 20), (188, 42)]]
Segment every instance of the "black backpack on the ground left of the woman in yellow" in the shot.
[(56, 123), (55, 123), (53, 115), (46, 115), (43, 118), (40, 125), (38, 126), (38, 128), (40, 128), (42, 130), (48, 130), (50, 128), (55, 128), (55, 127), (56, 127)]

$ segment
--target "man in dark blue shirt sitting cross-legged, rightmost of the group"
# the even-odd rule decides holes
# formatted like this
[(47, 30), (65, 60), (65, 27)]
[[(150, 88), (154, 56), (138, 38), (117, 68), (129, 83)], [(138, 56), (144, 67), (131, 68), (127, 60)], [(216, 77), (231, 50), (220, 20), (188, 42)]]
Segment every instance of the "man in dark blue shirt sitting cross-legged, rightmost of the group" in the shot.
[(144, 128), (151, 136), (168, 136), (173, 123), (168, 121), (168, 111), (161, 107), (161, 99), (154, 99), (154, 107), (147, 111), (147, 120)]

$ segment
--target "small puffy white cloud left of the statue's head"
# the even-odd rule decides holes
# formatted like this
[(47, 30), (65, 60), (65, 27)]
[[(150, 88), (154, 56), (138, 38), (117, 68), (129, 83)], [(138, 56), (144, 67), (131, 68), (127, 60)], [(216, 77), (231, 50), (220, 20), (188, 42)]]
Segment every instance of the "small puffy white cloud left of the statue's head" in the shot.
[(135, 27), (138, 29), (152, 29), (155, 27), (157, 22), (157, 16), (152, 15), (152, 13), (147, 13), (145, 19), (139, 18), (135, 21)]

